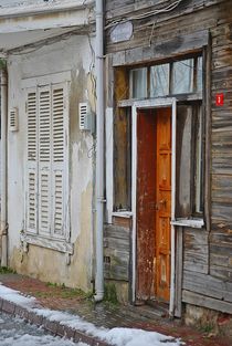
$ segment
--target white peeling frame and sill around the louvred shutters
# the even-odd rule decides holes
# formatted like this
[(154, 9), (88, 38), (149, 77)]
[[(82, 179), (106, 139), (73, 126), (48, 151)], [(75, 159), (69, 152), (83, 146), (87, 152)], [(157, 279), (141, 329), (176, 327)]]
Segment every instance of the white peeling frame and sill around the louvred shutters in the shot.
[[(28, 221), (27, 221), (27, 184), (24, 185), (24, 226), (23, 230), (21, 231), (21, 242), (23, 244), (23, 249), (28, 249), (28, 244), (34, 244), (39, 245), (42, 248), (46, 249), (52, 249), (56, 250), (60, 252), (68, 253), (72, 254), (74, 250), (74, 245), (71, 243), (71, 232), (70, 232), (70, 199), (68, 199), (68, 161), (70, 161), (70, 138), (68, 138), (68, 112), (70, 112), (70, 106), (68, 106), (68, 94), (70, 94), (70, 83), (71, 83), (71, 73), (70, 72), (62, 72), (62, 73), (56, 73), (52, 75), (46, 75), (46, 76), (39, 76), (39, 77), (32, 77), (32, 78), (27, 78), (22, 81), (22, 90), (24, 94), (24, 99), (27, 102), (27, 96), (30, 92), (34, 92), (39, 88), (44, 87), (45, 85), (50, 88), (51, 93), (53, 93), (54, 90), (63, 88), (63, 120), (64, 120), (64, 159), (62, 161), (63, 165), (63, 176), (64, 176), (64, 196), (65, 196), (65, 201), (63, 201), (63, 210), (64, 210), (64, 234), (60, 237), (59, 234), (54, 234), (50, 230), (49, 234), (42, 234), (38, 230), (35, 232), (31, 231), (28, 229)], [(39, 98), (39, 93), (36, 94), (36, 99)], [(27, 106), (25, 106), (25, 112), (27, 112)], [(51, 114), (51, 116), (53, 116)], [(36, 111), (36, 117), (38, 117), (38, 111)], [(38, 119), (36, 119), (38, 123)], [(51, 125), (52, 126), (52, 125)], [(27, 129), (28, 132), (28, 129)], [(38, 132), (38, 129), (36, 129)], [(39, 140), (39, 138), (36, 139)], [(28, 139), (27, 139), (28, 143)], [(38, 144), (36, 144), (38, 145)], [(28, 146), (28, 144), (27, 144)], [(53, 146), (53, 143), (51, 143), (51, 146)], [(25, 166), (28, 167), (28, 150), (25, 150)], [(36, 165), (39, 165), (39, 160), (36, 160)], [(57, 165), (53, 165), (53, 168), (55, 168)], [(57, 167), (56, 167), (57, 168)], [(27, 168), (28, 170), (28, 168)], [(50, 167), (50, 172), (53, 172)], [(38, 174), (39, 175), (39, 174)], [(38, 178), (39, 181), (39, 178)], [(53, 188), (51, 184), (51, 188)], [(63, 195), (63, 193), (62, 193)], [(53, 208), (54, 209), (54, 208)], [(51, 211), (50, 214), (50, 222), (52, 222), (52, 218), (54, 217), (54, 210)]]

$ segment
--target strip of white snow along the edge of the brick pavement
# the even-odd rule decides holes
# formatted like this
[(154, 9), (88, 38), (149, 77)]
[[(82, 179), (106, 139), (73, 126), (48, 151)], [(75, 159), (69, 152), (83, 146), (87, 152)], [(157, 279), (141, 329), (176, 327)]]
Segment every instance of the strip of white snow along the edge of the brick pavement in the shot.
[[(182, 343), (173, 339), (170, 336), (165, 336), (156, 332), (146, 332), (134, 328), (99, 328), (94, 324), (84, 321), (77, 315), (63, 313), (59, 311), (38, 308), (35, 306), (35, 298), (24, 297), (18, 291), (7, 289), (0, 284), (0, 297), (21, 305), (28, 310), (33, 310), (38, 315), (42, 315), (51, 322), (59, 322), (62, 325), (70, 326), (81, 332), (85, 332), (88, 335), (96, 336), (102, 340), (105, 340), (116, 346), (179, 346)], [(34, 304), (34, 308), (33, 308)], [(29, 346), (23, 340), (23, 346)], [(1, 344), (0, 344), (1, 345)], [(6, 346), (11, 344), (6, 344)], [(20, 345), (20, 344), (17, 344)], [(36, 346), (36, 344), (33, 344)], [(41, 345), (41, 344), (38, 344)], [(50, 345), (50, 344), (43, 344)], [(59, 344), (57, 344), (59, 345)], [(21, 346), (21, 345), (20, 345)], [(60, 346), (60, 345), (59, 345)]]

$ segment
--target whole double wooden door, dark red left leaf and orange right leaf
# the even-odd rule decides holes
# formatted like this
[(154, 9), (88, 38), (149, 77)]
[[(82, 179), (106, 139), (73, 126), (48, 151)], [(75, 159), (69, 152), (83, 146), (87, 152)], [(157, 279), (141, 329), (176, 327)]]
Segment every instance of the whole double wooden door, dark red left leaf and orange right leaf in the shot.
[(139, 111), (137, 120), (138, 300), (169, 301), (171, 108)]

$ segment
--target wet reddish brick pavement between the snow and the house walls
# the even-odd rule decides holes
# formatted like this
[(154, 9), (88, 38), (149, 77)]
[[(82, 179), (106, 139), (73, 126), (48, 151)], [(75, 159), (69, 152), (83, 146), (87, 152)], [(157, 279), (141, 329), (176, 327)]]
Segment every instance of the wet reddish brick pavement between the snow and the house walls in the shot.
[(181, 325), (180, 321), (158, 317), (152, 314), (152, 311), (149, 311), (148, 314), (141, 314), (140, 308), (135, 306), (119, 305), (110, 307), (103, 303), (94, 304), (75, 290), (42, 283), (39, 280), (18, 274), (0, 274), (0, 282), (10, 289), (20, 291), (24, 295), (35, 296), (45, 308), (77, 314), (97, 326), (108, 328), (134, 327), (154, 331), (180, 337), (186, 342), (187, 346), (232, 346), (231, 339), (201, 333)]

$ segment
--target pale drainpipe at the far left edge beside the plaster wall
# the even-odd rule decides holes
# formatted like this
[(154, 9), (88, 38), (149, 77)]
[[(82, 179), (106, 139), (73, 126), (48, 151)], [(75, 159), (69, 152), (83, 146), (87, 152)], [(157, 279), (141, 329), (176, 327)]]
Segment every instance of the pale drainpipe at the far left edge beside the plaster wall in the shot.
[(8, 75), (1, 70), (1, 266), (8, 265), (7, 227), (7, 120), (8, 120)]

